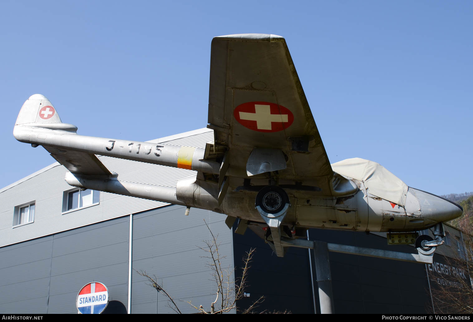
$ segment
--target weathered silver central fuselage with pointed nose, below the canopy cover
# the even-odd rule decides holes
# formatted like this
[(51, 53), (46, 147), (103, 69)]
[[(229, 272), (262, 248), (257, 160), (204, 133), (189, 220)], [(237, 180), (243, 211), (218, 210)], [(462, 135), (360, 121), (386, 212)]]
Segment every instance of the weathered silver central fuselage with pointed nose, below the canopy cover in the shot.
[[(261, 222), (254, 208), (256, 193), (228, 192), (222, 212)], [(358, 189), (341, 197), (311, 196), (288, 191), (291, 206), (283, 224), (295, 227), (343, 229), (361, 232), (412, 232), (447, 222), (463, 212), (457, 204), (428, 192), (409, 187), (405, 206), (396, 205)]]

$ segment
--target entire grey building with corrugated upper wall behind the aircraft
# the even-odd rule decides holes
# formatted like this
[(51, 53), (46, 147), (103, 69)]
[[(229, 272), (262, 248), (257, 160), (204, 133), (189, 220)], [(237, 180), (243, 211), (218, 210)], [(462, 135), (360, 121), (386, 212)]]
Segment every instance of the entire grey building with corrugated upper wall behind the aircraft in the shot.
[[(212, 134), (200, 129), (150, 142), (201, 148)], [(121, 179), (138, 183), (175, 187), (177, 179), (192, 173), (99, 159)], [(183, 313), (196, 313), (186, 301), (210, 310), (215, 282), (200, 248), (211, 239), (208, 224), (226, 255), (222, 266), (237, 268), (232, 279), (240, 274), (245, 252), (256, 248), (246, 288), (250, 296), (239, 300), (239, 307), (263, 295), (257, 312), (320, 313), (311, 250), (290, 248), (278, 258), (252, 231), (241, 235), (234, 233), (236, 227), (228, 229), (225, 215), (193, 208), (185, 216), (184, 206), (80, 191), (64, 181), (66, 171), (56, 162), (0, 189), (0, 312), (77, 313), (79, 290), (96, 281), (109, 291), (104, 313), (174, 313), (136, 270), (156, 275)], [(435, 287), (428, 273), (437, 274), (438, 281), (448, 279), (439, 265), (465, 257), (464, 234), (446, 229), (449, 241), (437, 250), (433, 265), (330, 253), (335, 313), (427, 312)], [(415, 252), (410, 245), (388, 247), (383, 233), (310, 229), (308, 235), (310, 240)]]

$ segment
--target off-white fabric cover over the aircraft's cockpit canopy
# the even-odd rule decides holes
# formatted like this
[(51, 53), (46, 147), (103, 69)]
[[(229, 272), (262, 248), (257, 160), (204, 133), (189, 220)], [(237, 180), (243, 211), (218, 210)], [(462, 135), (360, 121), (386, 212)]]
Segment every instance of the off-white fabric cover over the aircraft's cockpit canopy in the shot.
[(332, 164), (333, 171), (342, 176), (363, 181), (368, 193), (404, 206), (407, 185), (379, 163), (352, 158)]

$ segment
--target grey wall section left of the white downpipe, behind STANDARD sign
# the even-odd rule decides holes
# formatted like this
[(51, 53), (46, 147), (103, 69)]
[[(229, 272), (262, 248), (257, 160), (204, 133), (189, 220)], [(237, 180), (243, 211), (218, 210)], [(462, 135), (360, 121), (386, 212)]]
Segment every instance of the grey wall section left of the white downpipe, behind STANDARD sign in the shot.
[(128, 299), (128, 217), (0, 249), (0, 312), (77, 313), (85, 284), (104, 283)]

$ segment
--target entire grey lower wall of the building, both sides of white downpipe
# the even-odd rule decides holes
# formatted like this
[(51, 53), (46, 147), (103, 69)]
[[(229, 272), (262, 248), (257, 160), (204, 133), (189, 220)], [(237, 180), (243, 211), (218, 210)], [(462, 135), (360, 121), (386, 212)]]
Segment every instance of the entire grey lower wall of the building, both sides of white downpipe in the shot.
[[(185, 207), (166, 206), (133, 215), (132, 268), (157, 275), (158, 282), (175, 297), (183, 313), (196, 312), (185, 301), (210, 310), (215, 282), (204, 240), (210, 231), (225, 256), (233, 281), (232, 233), (225, 216)], [(128, 306), (130, 216), (56, 233), (0, 248), (0, 312), (77, 313), (76, 298), (82, 286), (101, 282), (109, 291), (109, 313)], [(163, 295), (132, 273), (131, 313), (173, 313)], [(183, 302), (184, 301), (184, 302)]]

